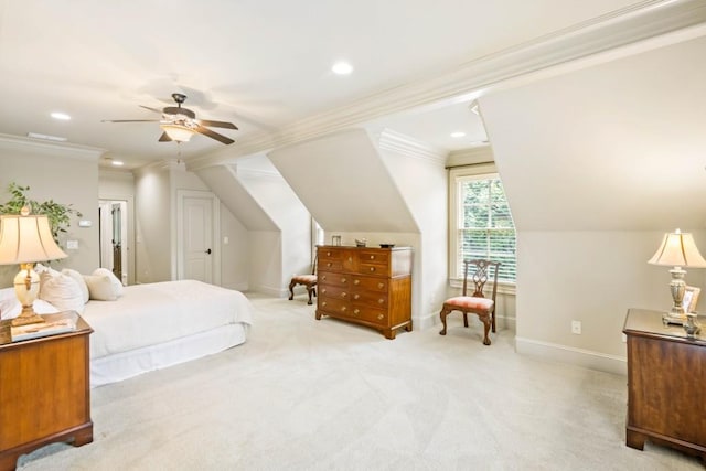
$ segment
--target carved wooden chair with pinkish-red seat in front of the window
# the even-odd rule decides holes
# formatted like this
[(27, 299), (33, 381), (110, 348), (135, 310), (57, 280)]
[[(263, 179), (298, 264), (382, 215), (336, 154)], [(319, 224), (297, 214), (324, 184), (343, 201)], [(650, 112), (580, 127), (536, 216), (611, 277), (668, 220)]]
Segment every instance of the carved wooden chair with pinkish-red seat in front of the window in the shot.
[[(483, 322), (483, 344), (490, 345), (489, 331), (495, 332), (495, 296), (498, 293), (499, 261), (473, 259), (463, 260), (463, 289), (461, 296), (443, 301), (439, 317), (443, 329), (439, 332), (446, 335), (446, 317), (453, 311), (463, 314), (463, 327), (468, 327), (468, 314), (477, 314)], [(492, 272), (491, 272), (492, 271)], [(490, 298), (483, 295), (483, 287), (489, 279), (493, 280), (493, 291)], [(469, 280), (473, 285), (473, 293), (468, 296)]]

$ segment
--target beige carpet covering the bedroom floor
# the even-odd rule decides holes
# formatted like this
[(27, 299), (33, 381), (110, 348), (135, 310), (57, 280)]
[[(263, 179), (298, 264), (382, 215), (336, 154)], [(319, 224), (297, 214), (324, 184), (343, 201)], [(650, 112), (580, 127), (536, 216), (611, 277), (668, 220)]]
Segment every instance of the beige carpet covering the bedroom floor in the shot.
[(246, 344), (93, 389), (94, 442), (22, 470), (702, 470), (624, 445), (625, 377), (520, 356), (481, 324), (376, 331), (254, 296)]

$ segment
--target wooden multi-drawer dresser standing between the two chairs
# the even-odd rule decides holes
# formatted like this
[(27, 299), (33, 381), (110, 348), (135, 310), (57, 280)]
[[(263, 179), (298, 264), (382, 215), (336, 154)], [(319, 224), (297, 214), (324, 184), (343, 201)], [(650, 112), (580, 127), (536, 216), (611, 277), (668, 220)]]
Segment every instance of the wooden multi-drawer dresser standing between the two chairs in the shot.
[(381, 331), (411, 331), (410, 247), (318, 247), (317, 319), (331, 315)]

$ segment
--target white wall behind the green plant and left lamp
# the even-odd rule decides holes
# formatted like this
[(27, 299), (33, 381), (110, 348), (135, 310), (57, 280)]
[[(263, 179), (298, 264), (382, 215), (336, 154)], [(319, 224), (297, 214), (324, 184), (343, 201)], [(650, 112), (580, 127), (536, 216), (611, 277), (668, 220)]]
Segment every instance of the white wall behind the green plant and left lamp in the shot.
[[(90, 227), (78, 227), (72, 217), (68, 232), (60, 236), (77, 240), (78, 249), (65, 249), (68, 258), (56, 260), (56, 268), (72, 267), (92, 272), (98, 267), (98, 158), (99, 149), (65, 143), (47, 143), (26, 138), (0, 135), (0, 201), (9, 200), (7, 188), (11, 182), (30, 186), (29, 197), (36, 201), (54, 200), (72, 204), (74, 210), (90, 220)], [(0, 267), (0, 286), (11, 286), (19, 267)]]

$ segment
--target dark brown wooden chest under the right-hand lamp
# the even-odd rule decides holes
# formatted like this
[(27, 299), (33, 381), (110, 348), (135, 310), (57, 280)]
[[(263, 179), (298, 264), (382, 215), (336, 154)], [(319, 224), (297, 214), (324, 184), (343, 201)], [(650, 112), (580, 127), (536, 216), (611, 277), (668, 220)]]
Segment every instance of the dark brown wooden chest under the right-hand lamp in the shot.
[[(706, 330), (706, 319), (700, 318)], [(645, 439), (706, 459), (706, 332), (688, 339), (681, 325), (665, 327), (662, 312), (630, 309), (625, 443)]]

